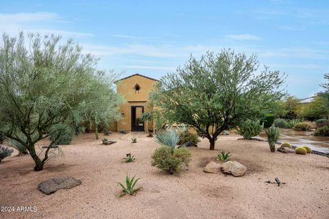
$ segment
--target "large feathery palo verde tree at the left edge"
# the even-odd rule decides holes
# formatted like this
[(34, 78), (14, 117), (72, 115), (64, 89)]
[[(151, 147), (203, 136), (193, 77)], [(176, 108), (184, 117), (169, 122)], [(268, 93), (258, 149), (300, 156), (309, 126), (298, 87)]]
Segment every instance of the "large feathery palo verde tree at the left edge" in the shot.
[[(93, 89), (101, 77), (97, 60), (83, 55), (72, 40), (25, 37), (3, 34), (0, 44), (0, 132), (27, 149), (38, 171), (51, 158), (53, 145), (84, 118), (90, 98), (97, 99)], [(40, 153), (36, 143), (44, 138), (49, 138), (49, 146)]]

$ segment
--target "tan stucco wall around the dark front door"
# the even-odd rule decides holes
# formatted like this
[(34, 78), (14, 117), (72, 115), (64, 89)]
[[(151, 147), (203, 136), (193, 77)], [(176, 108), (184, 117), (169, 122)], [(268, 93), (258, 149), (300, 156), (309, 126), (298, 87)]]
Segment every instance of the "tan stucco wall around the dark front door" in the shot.
[[(135, 85), (141, 87), (139, 92), (135, 92)], [(146, 77), (140, 75), (134, 75), (132, 77), (128, 77), (121, 81), (117, 81), (117, 92), (125, 98), (125, 103), (121, 104), (119, 112), (123, 114), (123, 118), (117, 121), (117, 131), (121, 131), (121, 129), (125, 129), (125, 131), (131, 131), (131, 107), (132, 106), (143, 106), (144, 112), (151, 111), (151, 107), (149, 106), (149, 92), (157, 81), (148, 79)], [(151, 127), (149, 125), (149, 127)], [(145, 124), (145, 131), (147, 131), (147, 127)]]

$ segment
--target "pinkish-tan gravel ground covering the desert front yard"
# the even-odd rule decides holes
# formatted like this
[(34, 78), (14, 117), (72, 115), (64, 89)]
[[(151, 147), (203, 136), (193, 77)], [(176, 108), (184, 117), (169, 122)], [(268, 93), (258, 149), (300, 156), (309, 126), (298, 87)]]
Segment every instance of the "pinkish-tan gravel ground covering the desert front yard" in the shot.
[[(105, 146), (103, 136), (95, 140), (92, 133), (84, 134), (63, 146), (64, 157), (52, 159), (40, 172), (33, 171), (28, 155), (4, 159), (0, 218), (329, 218), (327, 157), (271, 153), (267, 142), (221, 136), (215, 151), (208, 150), (206, 139), (190, 148), (188, 170), (168, 175), (150, 165), (158, 144), (145, 136), (113, 133), (108, 139), (117, 143)], [(243, 177), (202, 171), (222, 149), (247, 167)], [(136, 162), (123, 163), (126, 153), (134, 154)], [(121, 189), (115, 182), (123, 182), (126, 173), (141, 177), (138, 185), (143, 190), (117, 198)], [(48, 196), (38, 191), (38, 183), (61, 175), (81, 179), (82, 184)], [(265, 183), (276, 177), (286, 184)], [(8, 206), (15, 211), (3, 212)], [(17, 211), (21, 206), (36, 211)]]

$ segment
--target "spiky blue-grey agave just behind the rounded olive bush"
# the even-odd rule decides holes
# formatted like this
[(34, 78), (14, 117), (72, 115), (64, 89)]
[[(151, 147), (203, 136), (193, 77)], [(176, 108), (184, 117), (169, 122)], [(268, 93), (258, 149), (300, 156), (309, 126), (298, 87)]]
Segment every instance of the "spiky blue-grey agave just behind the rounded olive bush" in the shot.
[(175, 149), (175, 146), (180, 142), (180, 138), (180, 134), (171, 127), (156, 133), (156, 142), (164, 146), (169, 146), (171, 149)]

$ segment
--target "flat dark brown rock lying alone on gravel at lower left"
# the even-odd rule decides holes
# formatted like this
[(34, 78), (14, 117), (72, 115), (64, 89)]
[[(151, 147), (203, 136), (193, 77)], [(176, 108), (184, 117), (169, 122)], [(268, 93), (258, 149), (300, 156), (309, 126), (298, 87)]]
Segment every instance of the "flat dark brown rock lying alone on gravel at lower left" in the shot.
[(82, 182), (79, 179), (75, 179), (74, 177), (55, 177), (40, 183), (38, 185), (38, 190), (45, 194), (51, 194), (57, 190), (71, 189), (77, 185), (80, 185), (81, 183)]

